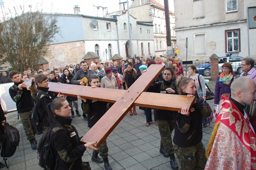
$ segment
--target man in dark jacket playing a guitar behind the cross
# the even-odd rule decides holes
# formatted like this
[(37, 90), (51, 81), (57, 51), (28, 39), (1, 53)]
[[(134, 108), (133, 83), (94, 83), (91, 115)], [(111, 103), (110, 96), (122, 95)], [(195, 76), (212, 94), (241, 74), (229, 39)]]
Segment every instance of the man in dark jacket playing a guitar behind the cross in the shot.
[[(93, 74), (93, 70), (88, 69), (87, 61), (82, 60), (80, 62), (80, 66), (82, 67), (82, 69), (78, 70), (76, 72), (75, 76), (71, 79), (71, 83), (74, 85), (85, 85), (82, 81), (78, 81), (78, 80), (83, 79), (83, 78), (88, 79), (89, 75)], [(85, 104), (85, 103), (82, 100), (82, 105), (81, 105), (82, 109), (83, 109), (83, 104)], [(85, 114), (88, 114), (88, 113), (84, 113), (84, 111), (83, 111), (83, 119), (87, 120), (87, 116)]]

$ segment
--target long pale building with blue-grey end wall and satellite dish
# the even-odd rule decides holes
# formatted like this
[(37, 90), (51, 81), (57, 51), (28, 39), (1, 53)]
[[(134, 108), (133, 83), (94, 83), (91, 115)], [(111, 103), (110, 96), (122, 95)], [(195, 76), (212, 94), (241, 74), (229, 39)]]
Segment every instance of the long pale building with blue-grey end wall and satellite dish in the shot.
[(51, 69), (80, 63), (87, 52), (95, 52), (101, 62), (109, 61), (115, 54), (120, 54), (123, 59), (131, 58), (130, 46), (134, 56), (154, 56), (153, 25), (138, 22), (132, 16), (130, 25), (132, 43), (126, 12), (111, 18), (86, 16), (79, 12), (59, 14), (56, 27), (61, 30), (60, 34), (49, 44), (49, 54), (44, 58)]

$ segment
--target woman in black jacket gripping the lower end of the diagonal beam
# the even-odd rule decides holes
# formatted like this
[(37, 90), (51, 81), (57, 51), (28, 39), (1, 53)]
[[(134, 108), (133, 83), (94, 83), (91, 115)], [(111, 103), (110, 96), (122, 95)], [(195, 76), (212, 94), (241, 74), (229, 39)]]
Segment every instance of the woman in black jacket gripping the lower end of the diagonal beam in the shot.
[(88, 166), (82, 161), (86, 148), (97, 150), (93, 145), (96, 142), (80, 143), (81, 137), (74, 126), (71, 125), (71, 108), (65, 98), (56, 98), (47, 105), (50, 122), (50, 150), (56, 151), (59, 156), (56, 170), (83, 170)]

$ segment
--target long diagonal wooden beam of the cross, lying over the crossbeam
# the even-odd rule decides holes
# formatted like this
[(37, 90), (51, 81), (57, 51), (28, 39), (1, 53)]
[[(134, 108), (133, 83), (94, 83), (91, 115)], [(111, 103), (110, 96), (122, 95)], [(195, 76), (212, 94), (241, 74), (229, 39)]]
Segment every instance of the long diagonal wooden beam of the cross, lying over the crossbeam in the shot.
[(108, 137), (108, 135), (121, 122), (122, 118), (134, 105), (134, 101), (145, 91), (163, 70), (163, 65), (151, 65), (147, 72), (121, 96), (117, 102), (98, 120), (98, 122), (83, 136), (81, 142), (97, 142), (96, 147)]

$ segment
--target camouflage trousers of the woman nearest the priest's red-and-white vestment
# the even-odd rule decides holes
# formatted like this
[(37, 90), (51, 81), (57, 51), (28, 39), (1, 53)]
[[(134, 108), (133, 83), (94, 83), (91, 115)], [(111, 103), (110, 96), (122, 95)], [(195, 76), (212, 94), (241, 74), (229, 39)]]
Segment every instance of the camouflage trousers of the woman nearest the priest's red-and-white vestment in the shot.
[(204, 170), (207, 158), (202, 142), (187, 148), (174, 144), (174, 150), (182, 170)]

